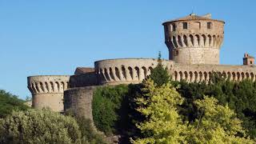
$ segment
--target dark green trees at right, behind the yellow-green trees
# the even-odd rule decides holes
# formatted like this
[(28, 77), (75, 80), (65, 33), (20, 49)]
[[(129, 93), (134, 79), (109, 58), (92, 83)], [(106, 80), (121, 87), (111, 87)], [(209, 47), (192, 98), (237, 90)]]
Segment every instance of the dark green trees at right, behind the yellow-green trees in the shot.
[(178, 92), (185, 98), (181, 113), (190, 122), (200, 115), (193, 101), (202, 99), (203, 95), (210, 95), (217, 98), (223, 106), (228, 104), (242, 120), (242, 126), (249, 130), (250, 137), (256, 138), (256, 82), (247, 79), (242, 82), (230, 82), (217, 74), (211, 77), (210, 84), (173, 83), (179, 86)]

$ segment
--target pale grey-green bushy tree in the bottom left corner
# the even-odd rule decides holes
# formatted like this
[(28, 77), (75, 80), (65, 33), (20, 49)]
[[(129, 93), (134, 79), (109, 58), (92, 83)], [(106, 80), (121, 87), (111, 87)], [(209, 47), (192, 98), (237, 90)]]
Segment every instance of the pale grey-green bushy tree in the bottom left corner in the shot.
[(0, 120), (0, 143), (79, 143), (74, 118), (50, 110), (14, 111)]

